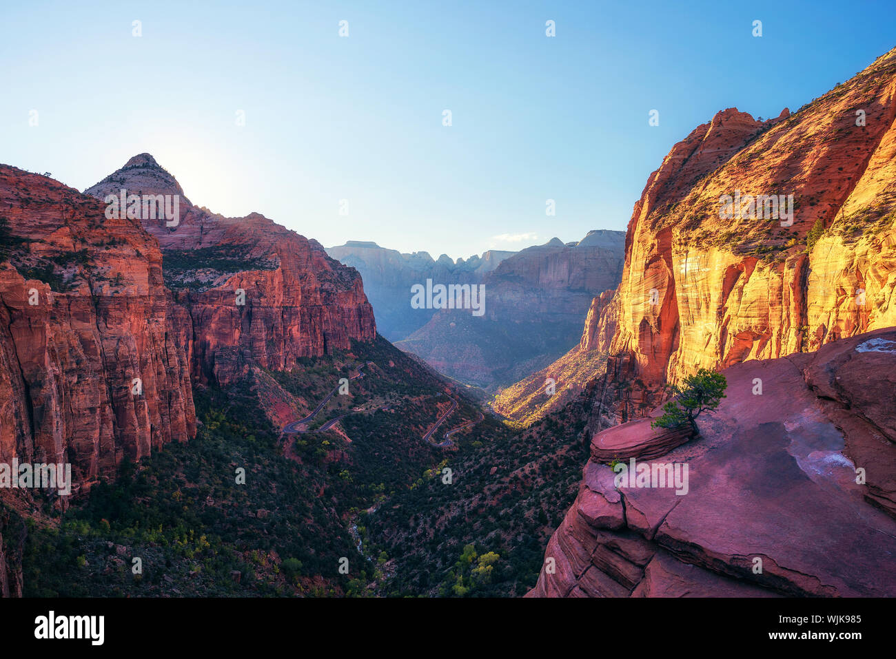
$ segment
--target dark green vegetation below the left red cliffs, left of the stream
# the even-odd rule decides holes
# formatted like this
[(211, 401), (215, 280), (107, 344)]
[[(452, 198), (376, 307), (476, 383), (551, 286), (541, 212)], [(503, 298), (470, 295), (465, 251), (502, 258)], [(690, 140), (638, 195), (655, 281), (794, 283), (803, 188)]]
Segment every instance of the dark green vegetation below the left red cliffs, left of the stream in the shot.
[[(195, 391), (197, 437), (125, 463), (58, 527), (30, 522), (27, 596), (338, 595), (357, 557), (333, 500), (351, 496), (284, 458), (252, 392)], [(236, 469), (246, 469), (237, 484)], [(323, 490), (323, 496), (318, 492)], [(141, 558), (142, 574), (132, 561)], [(373, 578), (365, 568), (355, 576)], [(313, 583), (308, 577), (323, 575)], [(238, 579), (238, 580), (237, 580)]]

